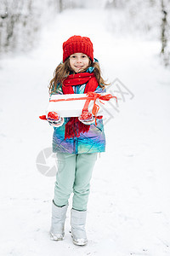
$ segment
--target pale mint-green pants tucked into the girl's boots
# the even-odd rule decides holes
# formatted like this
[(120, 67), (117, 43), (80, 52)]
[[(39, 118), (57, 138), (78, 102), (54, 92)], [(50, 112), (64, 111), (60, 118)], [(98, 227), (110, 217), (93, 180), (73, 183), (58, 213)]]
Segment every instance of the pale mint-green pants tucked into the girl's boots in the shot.
[(97, 153), (57, 153), (58, 172), (54, 187), (54, 203), (58, 207), (68, 204), (73, 192), (72, 208), (86, 211), (90, 180), (97, 159)]

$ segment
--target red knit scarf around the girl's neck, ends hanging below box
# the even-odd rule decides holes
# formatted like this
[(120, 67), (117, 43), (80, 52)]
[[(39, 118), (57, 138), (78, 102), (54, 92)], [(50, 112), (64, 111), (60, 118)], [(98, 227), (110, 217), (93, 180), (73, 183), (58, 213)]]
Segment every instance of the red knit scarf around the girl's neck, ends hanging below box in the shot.
[[(63, 82), (62, 90), (64, 94), (73, 94), (73, 85), (86, 84), (84, 93), (94, 91), (98, 87), (98, 81), (94, 73), (76, 73), (69, 75)], [(71, 137), (80, 137), (81, 132), (88, 132), (90, 125), (84, 125), (77, 117), (71, 119), (65, 125), (65, 139)]]

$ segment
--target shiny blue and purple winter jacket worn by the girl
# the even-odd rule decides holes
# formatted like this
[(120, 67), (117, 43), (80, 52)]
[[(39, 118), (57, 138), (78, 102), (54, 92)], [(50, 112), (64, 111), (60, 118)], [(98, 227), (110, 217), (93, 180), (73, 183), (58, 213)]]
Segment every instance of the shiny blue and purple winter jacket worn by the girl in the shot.
[[(94, 67), (89, 67), (87, 72), (92, 73)], [(74, 93), (84, 93), (86, 84), (72, 86)], [(100, 86), (95, 90), (97, 93), (105, 92)], [(63, 94), (61, 86), (53, 94)], [(65, 139), (65, 124), (70, 118), (65, 118), (65, 122), (60, 127), (54, 127), (53, 152), (84, 154), (105, 152), (105, 132), (102, 119), (97, 119), (97, 125), (90, 125), (88, 132), (81, 133), (80, 137)]]

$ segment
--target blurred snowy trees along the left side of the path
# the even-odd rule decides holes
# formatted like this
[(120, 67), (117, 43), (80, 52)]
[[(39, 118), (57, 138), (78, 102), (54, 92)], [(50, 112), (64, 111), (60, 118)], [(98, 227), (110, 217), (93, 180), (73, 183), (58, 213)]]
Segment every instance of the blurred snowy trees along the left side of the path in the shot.
[(83, 7), (79, 0), (1, 0), (0, 53), (29, 50), (37, 44), (42, 26), (68, 8)]

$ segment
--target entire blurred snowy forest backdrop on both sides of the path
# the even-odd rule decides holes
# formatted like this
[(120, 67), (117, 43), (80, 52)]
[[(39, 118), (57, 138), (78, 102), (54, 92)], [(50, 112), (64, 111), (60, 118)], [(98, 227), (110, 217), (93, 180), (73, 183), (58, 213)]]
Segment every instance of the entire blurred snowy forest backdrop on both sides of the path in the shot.
[(157, 54), (165, 66), (170, 59), (169, 0), (2, 0), (0, 3), (0, 53), (27, 51), (37, 46), (47, 22), (65, 9), (107, 9), (112, 33), (138, 34), (159, 40)]

